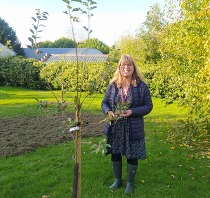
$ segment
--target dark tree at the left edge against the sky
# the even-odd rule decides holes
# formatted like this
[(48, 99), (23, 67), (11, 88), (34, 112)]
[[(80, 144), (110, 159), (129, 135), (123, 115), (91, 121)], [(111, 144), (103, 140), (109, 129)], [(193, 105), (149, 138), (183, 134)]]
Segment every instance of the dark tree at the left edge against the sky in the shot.
[(24, 55), (16, 32), (9, 26), (9, 24), (0, 17), (0, 43), (12, 49), (17, 55)]

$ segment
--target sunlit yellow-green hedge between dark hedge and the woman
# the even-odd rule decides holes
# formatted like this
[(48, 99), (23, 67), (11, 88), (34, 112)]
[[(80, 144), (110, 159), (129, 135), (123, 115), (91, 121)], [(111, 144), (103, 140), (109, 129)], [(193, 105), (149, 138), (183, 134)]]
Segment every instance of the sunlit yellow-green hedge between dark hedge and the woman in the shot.
[(115, 66), (104, 63), (49, 63), (41, 70), (41, 77), (55, 89), (62, 84), (69, 91), (97, 91), (103, 93), (111, 79)]

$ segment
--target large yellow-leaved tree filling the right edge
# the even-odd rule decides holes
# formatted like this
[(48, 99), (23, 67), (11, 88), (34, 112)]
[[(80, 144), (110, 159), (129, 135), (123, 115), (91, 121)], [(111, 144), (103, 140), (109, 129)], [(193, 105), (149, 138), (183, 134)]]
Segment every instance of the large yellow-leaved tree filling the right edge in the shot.
[(180, 1), (180, 7), (182, 15), (160, 32), (162, 62), (151, 87), (153, 93), (188, 109), (188, 119), (179, 122), (170, 139), (206, 151), (210, 139), (209, 1)]

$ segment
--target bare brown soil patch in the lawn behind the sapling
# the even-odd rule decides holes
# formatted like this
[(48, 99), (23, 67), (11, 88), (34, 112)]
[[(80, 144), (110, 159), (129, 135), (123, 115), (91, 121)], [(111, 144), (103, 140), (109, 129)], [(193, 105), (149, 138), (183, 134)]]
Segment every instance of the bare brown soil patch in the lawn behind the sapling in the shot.
[[(103, 134), (102, 116), (84, 115), (82, 136)], [(66, 124), (68, 116), (43, 116), (0, 119), (0, 156), (11, 156), (72, 139)], [(65, 129), (65, 133), (63, 133)]]

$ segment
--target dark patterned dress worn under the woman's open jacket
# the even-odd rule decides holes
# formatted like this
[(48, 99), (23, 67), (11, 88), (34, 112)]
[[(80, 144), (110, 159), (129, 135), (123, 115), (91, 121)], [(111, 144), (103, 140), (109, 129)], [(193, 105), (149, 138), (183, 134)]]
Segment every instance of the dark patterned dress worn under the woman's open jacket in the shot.
[[(120, 102), (132, 102), (131, 89), (127, 94), (124, 94), (122, 89), (119, 89), (115, 97), (115, 106)], [(110, 136), (107, 143), (110, 144), (110, 152), (113, 154), (121, 154), (127, 159), (146, 159), (145, 139), (131, 141), (129, 138), (130, 124), (129, 118), (120, 118), (113, 124)]]

